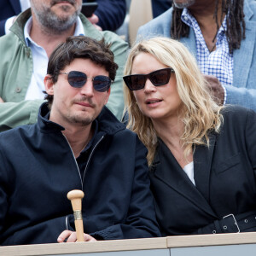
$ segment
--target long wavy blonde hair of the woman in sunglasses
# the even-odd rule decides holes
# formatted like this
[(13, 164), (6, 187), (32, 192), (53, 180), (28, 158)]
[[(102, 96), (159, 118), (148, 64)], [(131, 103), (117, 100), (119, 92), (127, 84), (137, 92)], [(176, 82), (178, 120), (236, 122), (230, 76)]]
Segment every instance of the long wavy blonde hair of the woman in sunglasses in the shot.
[[(189, 50), (171, 38), (151, 38), (135, 44), (125, 65), (125, 75), (131, 74), (132, 64), (137, 55), (148, 53), (167, 67), (172, 67), (177, 80), (177, 93), (183, 102), (181, 119), (184, 125), (180, 138), (184, 154), (193, 150), (193, 145), (209, 146), (209, 131), (218, 132), (222, 123), (219, 107), (211, 97), (207, 82)], [(133, 92), (125, 88), (125, 110), (129, 114), (128, 127), (135, 131), (148, 148), (148, 165), (154, 160), (157, 136), (152, 120), (138, 108)]]

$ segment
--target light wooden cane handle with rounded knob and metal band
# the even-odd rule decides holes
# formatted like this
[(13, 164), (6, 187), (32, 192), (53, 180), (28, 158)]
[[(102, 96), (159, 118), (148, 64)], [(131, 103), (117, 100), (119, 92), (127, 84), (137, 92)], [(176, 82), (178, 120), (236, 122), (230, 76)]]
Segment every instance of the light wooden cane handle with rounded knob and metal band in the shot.
[(84, 225), (82, 218), (82, 199), (84, 197), (84, 192), (78, 189), (69, 191), (67, 193), (67, 198), (71, 201), (74, 215), (74, 223), (77, 233), (77, 240), (84, 241)]

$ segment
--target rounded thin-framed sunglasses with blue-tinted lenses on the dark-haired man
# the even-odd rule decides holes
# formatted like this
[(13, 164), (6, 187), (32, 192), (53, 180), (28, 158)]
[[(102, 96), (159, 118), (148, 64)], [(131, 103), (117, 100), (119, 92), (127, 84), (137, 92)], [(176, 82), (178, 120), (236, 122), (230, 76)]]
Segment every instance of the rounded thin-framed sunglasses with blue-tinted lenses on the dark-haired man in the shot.
[(107, 76), (96, 76), (95, 78), (90, 78), (86, 73), (79, 71), (71, 71), (69, 73), (60, 72), (57, 74), (67, 74), (67, 81), (74, 88), (82, 88), (86, 84), (87, 79), (92, 80), (93, 88), (96, 91), (107, 91), (112, 83), (111, 79)]

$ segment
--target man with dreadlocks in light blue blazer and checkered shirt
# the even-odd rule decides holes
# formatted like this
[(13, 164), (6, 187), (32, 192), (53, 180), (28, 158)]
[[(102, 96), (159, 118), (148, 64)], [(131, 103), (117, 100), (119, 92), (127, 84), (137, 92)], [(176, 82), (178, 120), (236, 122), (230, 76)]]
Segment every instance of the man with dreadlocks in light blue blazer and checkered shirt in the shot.
[(256, 1), (174, 0), (141, 26), (137, 40), (164, 36), (195, 55), (218, 104), (256, 111)]

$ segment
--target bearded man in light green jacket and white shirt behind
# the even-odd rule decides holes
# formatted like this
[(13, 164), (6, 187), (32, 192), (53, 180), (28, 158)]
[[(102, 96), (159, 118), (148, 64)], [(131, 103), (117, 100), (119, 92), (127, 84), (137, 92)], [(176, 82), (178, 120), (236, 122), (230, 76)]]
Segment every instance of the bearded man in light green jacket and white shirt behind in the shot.
[[(111, 85), (107, 107), (121, 119), (124, 109), (122, 74), (128, 49), (125, 41), (113, 32), (96, 30), (80, 14), (81, 0), (54, 5), (50, 4), (50, 0), (31, 0), (31, 4), (32, 9), (21, 13), (11, 27), (11, 32), (0, 38), (0, 131), (37, 121), (38, 108), (44, 102), (44, 95), (38, 96), (34, 93), (38, 90), (35, 89), (37, 82), (41, 82), (40, 75), (44, 78), (44, 66), (46, 68), (49, 55), (58, 44), (64, 42), (68, 36), (81, 35), (79, 26), (85, 36), (97, 40), (104, 38), (105, 42), (111, 44), (114, 61), (119, 69)], [(54, 22), (45, 21), (45, 14), (53, 18)], [(32, 20), (29, 20), (31, 17)], [(38, 60), (41, 59), (45, 61), (44, 65), (38, 65)]]

